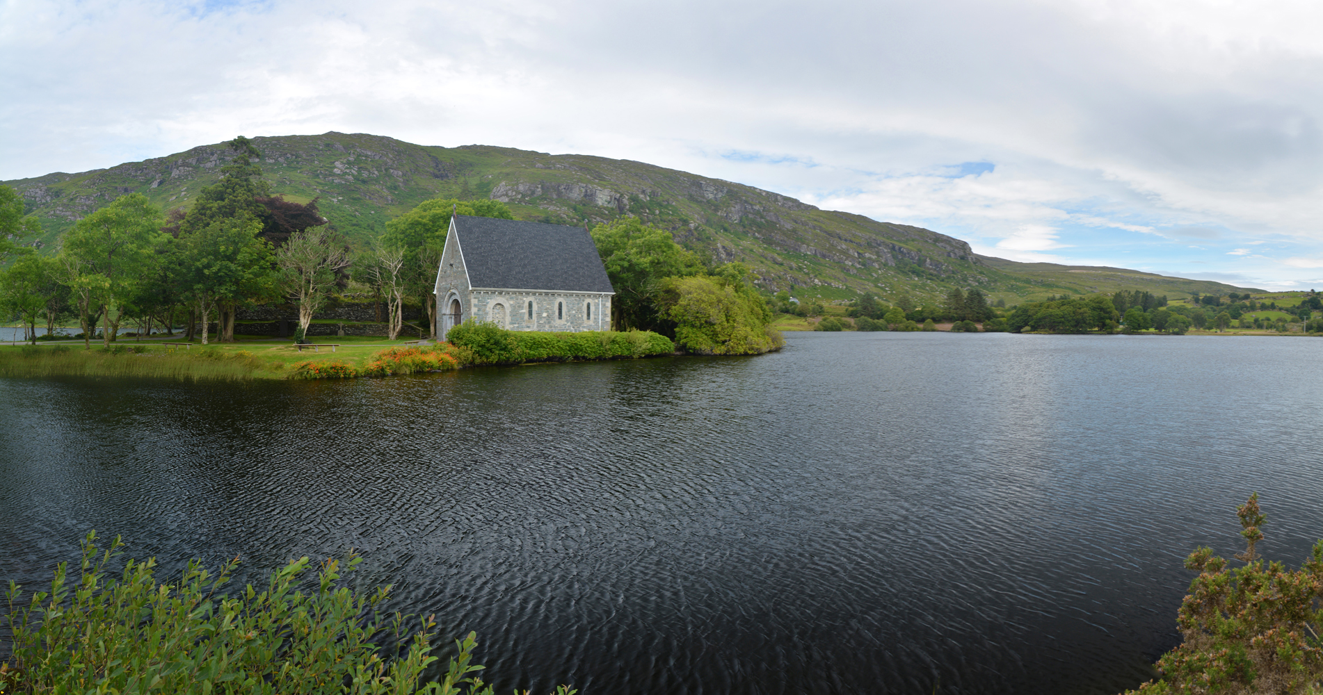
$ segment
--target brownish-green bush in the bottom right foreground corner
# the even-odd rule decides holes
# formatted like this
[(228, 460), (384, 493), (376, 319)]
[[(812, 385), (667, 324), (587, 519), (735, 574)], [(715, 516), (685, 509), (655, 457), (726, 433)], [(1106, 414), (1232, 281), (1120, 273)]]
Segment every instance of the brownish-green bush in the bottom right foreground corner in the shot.
[(1185, 559), (1199, 572), (1176, 624), (1184, 641), (1158, 659), (1160, 680), (1135, 691), (1152, 695), (1304, 694), (1323, 679), (1323, 540), (1298, 571), (1259, 559), (1263, 539), (1258, 494), (1237, 507), (1245, 552), (1229, 563), (1201, 547)]

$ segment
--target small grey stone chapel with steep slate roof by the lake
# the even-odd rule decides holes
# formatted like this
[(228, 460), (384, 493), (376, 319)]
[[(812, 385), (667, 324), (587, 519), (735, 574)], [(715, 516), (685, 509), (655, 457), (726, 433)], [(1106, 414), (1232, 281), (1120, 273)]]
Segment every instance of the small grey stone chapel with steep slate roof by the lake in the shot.
[(583, 227), (452, 215), (437, 337), (474, 318), (508, 330), (610, 330), (615, 291)]

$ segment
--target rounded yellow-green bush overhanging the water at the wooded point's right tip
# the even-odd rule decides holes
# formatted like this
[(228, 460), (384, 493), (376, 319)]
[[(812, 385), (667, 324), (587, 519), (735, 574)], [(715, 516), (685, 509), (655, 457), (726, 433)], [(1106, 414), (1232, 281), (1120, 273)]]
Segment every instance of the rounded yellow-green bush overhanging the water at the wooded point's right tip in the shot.
[(662, 303), (676, 324), (676, 345), (701, 354), (761, 354), (785, 345), (770, 325), (766, 304), (744, 281), (744, 272), (742, 266), (728, 264), (716, 277), (665, 281)]

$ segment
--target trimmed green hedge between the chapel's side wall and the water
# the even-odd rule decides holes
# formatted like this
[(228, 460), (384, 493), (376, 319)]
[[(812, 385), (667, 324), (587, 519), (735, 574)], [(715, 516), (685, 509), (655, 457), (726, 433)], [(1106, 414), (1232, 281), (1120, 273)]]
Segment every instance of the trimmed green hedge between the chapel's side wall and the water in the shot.
[(472, 350), (475, 365), (639, 358), (675, 351), (675, 344), (669, 338), (651, 330), (540, 333), (505, 330), (495, 324), (474, 321), (464, 321), (450, 329), (446, 340), (451, 345)]

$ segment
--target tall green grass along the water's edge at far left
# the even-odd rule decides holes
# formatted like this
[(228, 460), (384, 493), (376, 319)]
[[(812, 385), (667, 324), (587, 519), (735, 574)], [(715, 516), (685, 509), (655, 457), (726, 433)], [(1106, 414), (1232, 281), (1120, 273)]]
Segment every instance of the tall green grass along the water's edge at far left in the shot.
[[(192, 353), (192, 354), (191, 354)], [(82, 350), (65, 345), (0, 350), (0, 377), (160, 377), (183, 381), (247, 381), (262, 361), (238, 350), (160, 351), (146, 348)]]

